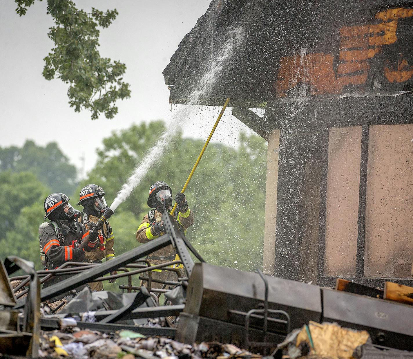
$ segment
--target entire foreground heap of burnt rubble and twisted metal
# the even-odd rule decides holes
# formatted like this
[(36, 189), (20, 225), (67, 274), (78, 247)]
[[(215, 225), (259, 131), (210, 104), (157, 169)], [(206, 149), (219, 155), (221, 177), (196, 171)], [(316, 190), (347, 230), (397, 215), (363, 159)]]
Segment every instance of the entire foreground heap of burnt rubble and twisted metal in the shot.
[[(8, 257), (0, 265), (0, 353), (76, 359), (412, 357), (406, 350), (413, 350), (413, 288), (388, 283), (380, 290), (338, 279), (331, 289), (213, 266), (173, 221), (166, 219), (165, 226), (166, 235), (103, 264), (71, 263), (45, 273)], [(171, 243), (180, 261), (150, 266), (143, 259)], [(177, 273), (176, 281), (152, 289), (151, 270), (173, 270), (176, 263), (184, 264), (188, 277)], [(27, 274), (10, 277), (19, 269)], [(103, 277), (114, 269), (123, 273)], [(63, 273), (71, 277), (40, 291), (47, 278)], [(136, 275), (145, 275), (148, 287), (133, 286)], [(128, 277), (123, 293), (85, 286), (119, 277)]]

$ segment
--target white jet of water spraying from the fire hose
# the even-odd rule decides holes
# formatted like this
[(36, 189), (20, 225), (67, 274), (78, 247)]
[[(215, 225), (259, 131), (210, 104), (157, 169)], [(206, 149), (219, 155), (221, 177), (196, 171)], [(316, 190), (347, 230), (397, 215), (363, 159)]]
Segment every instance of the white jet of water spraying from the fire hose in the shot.
[[(224, 45), (209, 61), (204, 75), (199, 79), (190, 93), (188, 105), (199, 103), (202, 97), (218, 80), (221, 76), (224, 64), (230, 61), (235, 49), (240, 45), (242, 35), (242, 26), (238, 26), (233, 30), (228, 31), (228, 40), (225, 41)], [(180, 131), (180, 129), (188, 123), (190, 119), (191, 107), (192, 106), (183, 106), (173, 115), (166, 131), (161, 135), (157, 143), (145, 154), (142, 162), (135, 167), (133, 173), (128, 178), (128, 181), (126, 181), (117, 193), (115, 200), (110, 206), (112, 211), (114, 211), (119, 204), (124, 202), (129, 197), (136, 186), (139, 185), (140, 181), (142, 181), (142, 178), (145, 177), (147, 171), (159, 162), (159, 159), (161, 159), (166, 147), (171, 142), (173, 135), (178, 133), (178, 131)]]

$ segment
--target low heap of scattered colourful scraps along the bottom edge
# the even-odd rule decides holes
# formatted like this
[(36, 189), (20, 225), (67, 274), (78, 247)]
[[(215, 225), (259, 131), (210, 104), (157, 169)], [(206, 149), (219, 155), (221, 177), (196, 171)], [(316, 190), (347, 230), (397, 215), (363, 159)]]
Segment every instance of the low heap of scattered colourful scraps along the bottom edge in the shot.
[(146, 337), (130, 330), (106, 334), (77, 327), (65, 331), (43, 331), (40, 357), (124, 358), (133, 359), (261, 359), (259, 354), (242, 350), (233, 344), (202, 342), (189, 345), (165, 337)]

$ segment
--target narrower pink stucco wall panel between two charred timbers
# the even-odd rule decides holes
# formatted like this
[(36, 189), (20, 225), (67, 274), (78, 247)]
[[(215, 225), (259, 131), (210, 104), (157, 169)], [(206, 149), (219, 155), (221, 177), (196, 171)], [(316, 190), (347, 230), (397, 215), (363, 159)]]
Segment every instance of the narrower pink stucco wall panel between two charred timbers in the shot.
[(330, 128), (325, 223), (325, 274), (356, 274), (361, 127)]

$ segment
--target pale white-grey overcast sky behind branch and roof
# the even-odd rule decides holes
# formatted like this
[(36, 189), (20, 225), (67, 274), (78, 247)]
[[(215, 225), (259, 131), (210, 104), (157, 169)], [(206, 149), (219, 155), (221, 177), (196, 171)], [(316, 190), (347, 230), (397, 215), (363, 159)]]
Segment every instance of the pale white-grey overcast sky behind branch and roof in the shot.
[[(12, 0), (0, 0), (0, 146), (20, 146), (26, 139), (39, 145), (56, 141), (78, 167), (85, 154), (87, 171), (95, 163), (95, 149), (112, 131), (141, 121), (168, 121), (171, 105), (162, 71), (209, 2), (76, 1), (85, 10), (118, 10), (114, 23), (101, 29), (100, 53), (126, 64), (124, 80), (132, 90), (130, 99), (117, 103), (119, 113), (113, 120), (101, 116), (92, 121), (89, 112), (75, 113), (69, 107), (66, 84), (58, 79), (46, 81), (42, 76), (43, 58), (52, 48), (47, 32), (53, 22), (46, 14), (46, 1), (36, 1), (25, 16), (19, 17)], [(196, 126), (185, 129), (184, 135), (206, 138), (218, 113), (219, 108), (200, 107), (194, 119)], [(227, 111), (223, 117), (214, 139), (234, 144), (239, 129), (247, 127), (231, 119), (230, 114)]]

